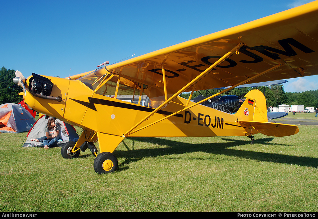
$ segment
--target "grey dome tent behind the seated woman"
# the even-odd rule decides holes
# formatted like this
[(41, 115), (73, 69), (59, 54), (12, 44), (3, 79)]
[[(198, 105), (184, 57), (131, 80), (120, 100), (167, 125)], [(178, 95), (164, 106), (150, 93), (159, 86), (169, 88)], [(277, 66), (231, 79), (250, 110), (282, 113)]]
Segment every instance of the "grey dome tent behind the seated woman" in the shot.
[[(27, 139), (23, 147), (44, 147), (42, 141), (45, 139), (46, 136), (45, 129), (48, 120), (49, 118), (45, 119), (45, 116), (42, 116), (36, 121), (36, 123), (27, 134)], [(61, 147), (68, 141), (79, 138), (79, 135), (77, 134), (73, 125), (67, 124), (59, 119), (56, 119), (55, 123), (61, 128), (59, 137), (62, 139), (62, 141), (58, 142), (58, 147)], [(39, 141), (32, 141), (33, 139), (38, 139)]]

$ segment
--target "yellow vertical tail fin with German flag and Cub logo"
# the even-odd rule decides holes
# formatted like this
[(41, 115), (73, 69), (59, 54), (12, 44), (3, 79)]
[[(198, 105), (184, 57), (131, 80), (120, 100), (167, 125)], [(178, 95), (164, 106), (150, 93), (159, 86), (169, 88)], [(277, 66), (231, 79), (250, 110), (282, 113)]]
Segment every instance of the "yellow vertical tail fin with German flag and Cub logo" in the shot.
[(239, 120), (267, 122), (266, 99), (259, 90), (251, 90), (236, 112)]

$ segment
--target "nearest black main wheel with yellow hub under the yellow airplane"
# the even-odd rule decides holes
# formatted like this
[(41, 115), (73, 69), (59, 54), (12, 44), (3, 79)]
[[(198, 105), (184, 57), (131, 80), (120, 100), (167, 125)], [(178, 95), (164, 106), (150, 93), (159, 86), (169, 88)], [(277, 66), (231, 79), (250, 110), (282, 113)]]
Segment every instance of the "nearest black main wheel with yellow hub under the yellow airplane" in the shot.
[(110, 152), (102, 152), (94, 160), (94, 170), (98, 174), (112, 173), (117, 170), (118, 160)]

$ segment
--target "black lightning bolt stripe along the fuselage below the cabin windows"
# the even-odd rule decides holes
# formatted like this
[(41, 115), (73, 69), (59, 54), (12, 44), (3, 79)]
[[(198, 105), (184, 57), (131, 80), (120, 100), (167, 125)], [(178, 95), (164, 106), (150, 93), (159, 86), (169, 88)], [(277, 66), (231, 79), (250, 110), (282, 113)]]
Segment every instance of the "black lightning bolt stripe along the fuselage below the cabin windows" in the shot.
[[(89, 97), (87, 97), (87, 98), (89, 100)], [(145, 112), (152, 112), (155, 110), (153, 108), (148, 108), (148, 107), (144, 107), (144, 106), (132, 105), (132, 104), (122, 103), (122, 102), (115, 102), (115, 101), (110, 101), (110, 100), (103, 100), (103, 99), (98, 99), (98, 98), (94, 98), (94, 97), (90, 98), (89, 102), (75, 100), (72, 98), (70, 98), (70, 99), (75, 101), (75, 102), (78, 102), (79, 104), (82, 104), (83, 106), (86, 106), (92, 110), (95, 110), (96, 112), (97, 112), (97, 109), (95, 107), (95, 104), (113, 106), (113, 107), (119, 107), (119, 108), (126, 108), (126, 109), (130, 109), (130, 110), (139, 110), (139, 111), (145, 111)], [(164, 110), (159, 110), (156, 113), (160, 113), (163, 115), (171, 115), (172, 114), (171, 112), (164, 111)], [(182, 114), (176, 114), (174, 116), (183, 118)]]

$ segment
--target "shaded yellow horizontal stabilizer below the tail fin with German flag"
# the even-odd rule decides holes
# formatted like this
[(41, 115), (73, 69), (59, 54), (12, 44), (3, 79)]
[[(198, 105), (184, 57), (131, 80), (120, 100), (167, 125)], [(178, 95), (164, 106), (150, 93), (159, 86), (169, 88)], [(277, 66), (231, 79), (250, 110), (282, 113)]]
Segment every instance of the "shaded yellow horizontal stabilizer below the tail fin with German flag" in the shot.
[(238, 121), (240, 125), (245, 127), (248, 135), (262, 133), (267, 136), (283, 137), (297, 134), (299, 129), (296, 125), (287, 125), (280, 123)]

